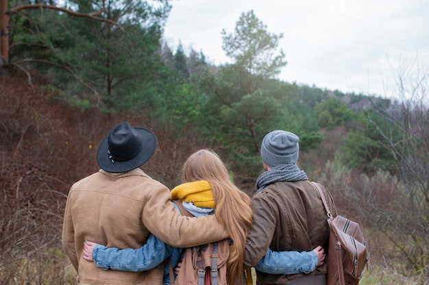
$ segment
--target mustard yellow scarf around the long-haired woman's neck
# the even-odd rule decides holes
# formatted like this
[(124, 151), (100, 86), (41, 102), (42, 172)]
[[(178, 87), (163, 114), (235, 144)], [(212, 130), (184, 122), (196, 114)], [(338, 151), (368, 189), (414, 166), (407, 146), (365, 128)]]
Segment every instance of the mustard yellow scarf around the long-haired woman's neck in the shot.
[(193, 202), (197, 207), (215, 208), (215, 198), (213, 198), (212, 188), (206, 180), (186, 182), (174, 187), (171, 190), (171, 200), (181, 200), (183, 202)]

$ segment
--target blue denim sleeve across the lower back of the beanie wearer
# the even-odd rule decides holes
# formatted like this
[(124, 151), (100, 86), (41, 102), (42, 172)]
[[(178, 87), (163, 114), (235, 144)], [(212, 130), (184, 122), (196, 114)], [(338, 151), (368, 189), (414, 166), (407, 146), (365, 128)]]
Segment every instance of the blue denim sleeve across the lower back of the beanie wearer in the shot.
[(255, 269), (270, 274), (310, 273), (317, 267), (317, 254), (311, 252), (272, 252), (256, 264)]

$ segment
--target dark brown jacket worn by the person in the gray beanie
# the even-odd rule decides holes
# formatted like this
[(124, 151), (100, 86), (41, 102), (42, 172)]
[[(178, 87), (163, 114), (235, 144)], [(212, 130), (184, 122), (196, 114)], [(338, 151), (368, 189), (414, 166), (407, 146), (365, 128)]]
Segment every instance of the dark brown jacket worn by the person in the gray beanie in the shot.
[[(330, 193), (323, 185), (321, 188), (326, 193), (332, 215), (336, 215)], [(268, 248), (275, 252), (311, 251), (328, 239), (325, 208), (319, 191), (308, 180), (275, 182), (267, 186), (252, 199), (252, 211), (253, 225), (244, 252), (245, 267), (254, 267)], [(283, 284), (305, 275), (256, 273), (259, 284)], [(323, 273), (326, 273), (326, 264), (310, 274)]]

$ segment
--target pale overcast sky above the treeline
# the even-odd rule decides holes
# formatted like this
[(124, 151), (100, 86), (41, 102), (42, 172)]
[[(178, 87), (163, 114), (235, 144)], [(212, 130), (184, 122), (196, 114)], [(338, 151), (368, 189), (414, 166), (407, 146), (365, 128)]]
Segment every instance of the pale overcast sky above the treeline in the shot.
[[(394, 72), (428, 72), (428, 0), (171, 0), (164, 38), (173, 49), (202, 51), (208, 62), (230, 62), (221, 31), (234, 32), (242, 12), (254, 14), (288, 64), (289, 83), (388, 96)], [(402, 71), (401, 71), (402, 72)], [(414, 73), (415, 74), (415, 73)], [(415, 75), (417, 76), (417, 75)]]

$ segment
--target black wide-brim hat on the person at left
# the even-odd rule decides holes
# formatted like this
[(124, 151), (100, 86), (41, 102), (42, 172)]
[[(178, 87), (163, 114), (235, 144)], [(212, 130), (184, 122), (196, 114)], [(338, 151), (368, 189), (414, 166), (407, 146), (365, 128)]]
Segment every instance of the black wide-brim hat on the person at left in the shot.
[(154, 133), (147, 128), (122, 122), (101, 141), (97, 150), (97, 163), (107, 172), (127, 172), (149, 161), (155, 148)]

